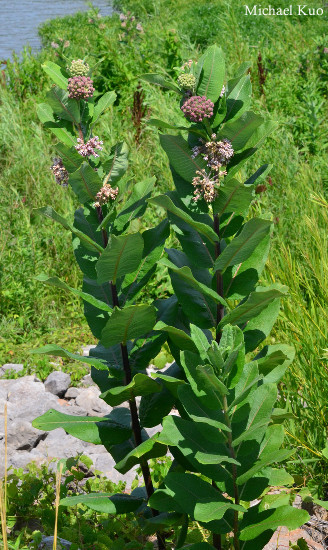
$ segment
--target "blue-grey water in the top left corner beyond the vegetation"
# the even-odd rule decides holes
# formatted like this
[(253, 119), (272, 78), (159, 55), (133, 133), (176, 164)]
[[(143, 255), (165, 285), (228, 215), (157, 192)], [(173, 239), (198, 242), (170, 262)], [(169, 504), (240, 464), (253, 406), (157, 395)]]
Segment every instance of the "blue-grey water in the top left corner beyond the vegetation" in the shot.
[[(93, 5), (102, 15), (112, 12), (108, 0), (94, 0)], [(40, 49), (38, 26), (47, 19), (88, 9), (84, 0), (0, 0), (0, 60), (27, 44)]]

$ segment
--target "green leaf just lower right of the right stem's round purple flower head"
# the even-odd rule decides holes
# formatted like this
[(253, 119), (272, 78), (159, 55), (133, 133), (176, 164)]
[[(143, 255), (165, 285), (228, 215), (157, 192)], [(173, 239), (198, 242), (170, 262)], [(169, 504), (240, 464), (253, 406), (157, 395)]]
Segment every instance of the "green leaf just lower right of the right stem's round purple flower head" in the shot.
[(237, 120), (229, 121), (218, 133), (218, 139), (231, 141), (234, 151), (240, 151), (248, 144), (255, 131), (263, 124), (264, 119), (252, 111), (246, 111)]

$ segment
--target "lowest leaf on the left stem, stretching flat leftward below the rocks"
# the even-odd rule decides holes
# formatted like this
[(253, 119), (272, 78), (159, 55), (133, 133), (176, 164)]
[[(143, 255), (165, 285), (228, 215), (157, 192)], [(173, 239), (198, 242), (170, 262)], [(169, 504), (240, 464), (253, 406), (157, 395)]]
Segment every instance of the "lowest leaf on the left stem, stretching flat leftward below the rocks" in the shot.
[(62, 498), (59, 504), (61, 506), (84, 504), (84, 506), (87, 506), (91, 510), (103, 514), (128, 514), (137, 510), (143, 501), (144, 499), (141, 497), (134, 497), (133, 495), (124, 493), (117, 495), (113, 493), (88, 493)]

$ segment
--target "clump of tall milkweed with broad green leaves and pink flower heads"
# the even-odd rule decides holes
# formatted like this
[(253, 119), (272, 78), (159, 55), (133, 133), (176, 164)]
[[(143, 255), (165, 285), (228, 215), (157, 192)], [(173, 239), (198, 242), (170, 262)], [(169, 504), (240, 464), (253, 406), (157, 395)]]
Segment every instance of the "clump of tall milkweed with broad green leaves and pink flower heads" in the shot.
[[(72, 234), (83, 284), (38, 278), (82, 298), (99, 343), (87, 358), (57, 345), (33, 351), (89, 363), (112, 411), (81, 417), (49, 410), (33, 425), (104, 445), (122, 474), (138, 465), (144, 484), (131, 494), (82, 494), (61, 505), (134, 512), (145, 534), (156, 533), (160, 550), (261, 549), (278, 526), (294, 529), (309, 517), (291, 505), (293, 478), (281, 466), (293, 451), (284, 445), (288, 413), (275, 406), (277, 385), (294, 352), (267, 338), (287, 288), (259, 284), (272, 221), (249, 216), (254, 184), (271, 166), (247, 179), (241, 171), (276, 124), (249, 110), (248, 68), (242, 64), (226, 81), (222, 51), (211, 46), (198, 62), (187, 61), (176, 81), (142, 75), (181, 108), (178, 127), (149, 121), (159, 129), (174, 182), (174, 190), (158, 195), (154, 177), (129, 182), (125, 143), (94, 135), (115, 92), (96, 99), (83, 60), (44, 65), (54, 85), (37, 111), (59, 140), (51, 169), (81, 206), (74, 220), (51, 206), (38, 213)], [(164, 221), (135, 231), (134, 220), (142, 227), (154, 206), (166, 212)], [(170, 232), (178, 244), (164, 249)], [(168, 270), (174, 294), (141, 303), (158, 265)], [(174, 362), (149, 375), (164, 344)], [(149, 459), (167, 453), (172, 465), (155, 488)], [(272, 486), (278, 494), (270, 494)], [(203, 542), (189, 542), (191, 522), (207, 534)]]

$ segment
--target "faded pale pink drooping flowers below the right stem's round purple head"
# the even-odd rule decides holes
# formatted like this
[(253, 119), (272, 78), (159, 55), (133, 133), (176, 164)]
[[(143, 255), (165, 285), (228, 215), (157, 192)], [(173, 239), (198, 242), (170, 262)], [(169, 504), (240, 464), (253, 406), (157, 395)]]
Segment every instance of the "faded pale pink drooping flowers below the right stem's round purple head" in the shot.
[(192, 180), (192, 185), (195, 187), (194, 200), (198, 201), (203, 197), (208, 203), (215, 200), (221, 180), (227, 174), (225, 166), (234, 155), (229, 139), (217, 141), (216, 134), (212, 134), (211, 139), (212, 141), (207, 142), (201, 140), (202, 145), (194, 147), (192, 153), (192, 158), (201, 155), (209, 167), (208, 173), (206, 170), (197, 171), (197, 176)]

